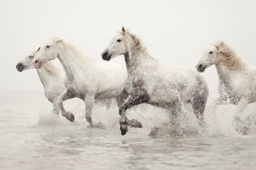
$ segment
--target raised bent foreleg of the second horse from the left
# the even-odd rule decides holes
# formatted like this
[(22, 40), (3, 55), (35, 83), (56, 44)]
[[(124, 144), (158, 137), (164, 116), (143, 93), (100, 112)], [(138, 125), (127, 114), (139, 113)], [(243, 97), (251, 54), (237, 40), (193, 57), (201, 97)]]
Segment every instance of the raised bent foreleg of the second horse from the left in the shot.
[(66, 89), (64, 91), (64, 93), (62, 93), (62, 95), (60, 95), (57, 98), (57, 103), (58, 103), (58, 105), (60, 107), (60, 110), (62, 112), (62, 116), (66, 117), (66, 119), (68, 119), (69, 121), (74, 122), (75, 121), (75, 116), (71, 112), (67, 112), (64, 109), (64, 106), (63, 106), (63, 102), (70, 99), (70, 98), (75, 98), (75, 95)]

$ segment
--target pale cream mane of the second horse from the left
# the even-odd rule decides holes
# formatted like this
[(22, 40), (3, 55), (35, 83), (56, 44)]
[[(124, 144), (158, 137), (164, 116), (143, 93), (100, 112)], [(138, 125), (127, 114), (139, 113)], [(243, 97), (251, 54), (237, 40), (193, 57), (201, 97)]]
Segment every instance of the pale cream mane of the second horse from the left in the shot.
[(62, 48), (71, 51), (71, 57), (80, 58), (81, 60), (92, 60), (88, 55), (85, 55), (78, 47), (76, 47), (73, 43), (70, 43), (64, 39), (62, 39), (59, 43), (62, 43)]

